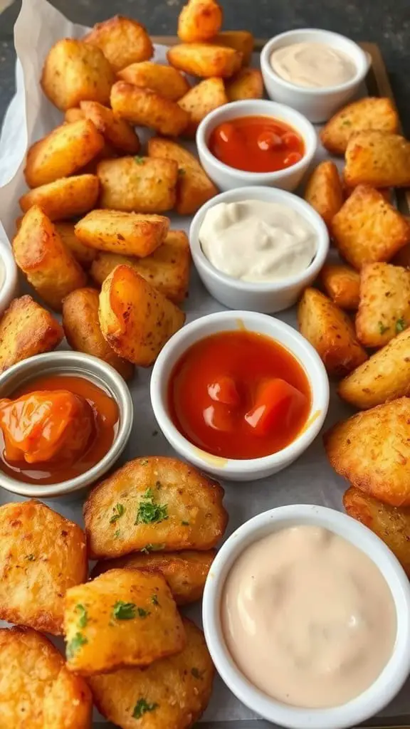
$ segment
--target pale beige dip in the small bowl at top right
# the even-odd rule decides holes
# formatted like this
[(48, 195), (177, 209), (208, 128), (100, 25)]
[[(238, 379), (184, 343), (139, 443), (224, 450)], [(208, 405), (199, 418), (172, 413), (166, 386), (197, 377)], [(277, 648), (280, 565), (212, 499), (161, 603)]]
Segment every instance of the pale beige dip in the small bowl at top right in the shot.
[(325, 43), (293, 43), (274, 50), (271, 68), (295, 86), (327, 88), (351, 81), (357, 73), (352, 58)]

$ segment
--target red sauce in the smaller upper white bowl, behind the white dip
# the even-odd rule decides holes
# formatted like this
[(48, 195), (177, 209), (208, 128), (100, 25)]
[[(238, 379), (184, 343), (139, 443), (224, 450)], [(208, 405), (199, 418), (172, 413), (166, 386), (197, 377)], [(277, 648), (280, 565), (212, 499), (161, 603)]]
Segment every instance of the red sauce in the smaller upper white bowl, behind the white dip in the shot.
[(273, 117), (238, 117), (212, 130), (208, 147), (229, 167), (246, 172), (276, 172), (299, 162), (305, 145), (285, 122)]

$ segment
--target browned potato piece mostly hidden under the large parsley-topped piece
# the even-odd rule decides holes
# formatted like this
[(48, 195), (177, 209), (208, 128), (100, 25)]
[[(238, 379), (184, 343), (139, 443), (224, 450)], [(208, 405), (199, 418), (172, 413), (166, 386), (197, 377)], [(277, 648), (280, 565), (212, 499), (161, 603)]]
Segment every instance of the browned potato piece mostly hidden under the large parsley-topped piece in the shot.
[(201, 599), (206, 575), (216, 552), (150, 552), (134, 553), (117, 559), (97, 562), (92, 577), (109, 569), (142, 569), (143, 572), (160, 572), (169, 584), (177, 605), (187, 605)]

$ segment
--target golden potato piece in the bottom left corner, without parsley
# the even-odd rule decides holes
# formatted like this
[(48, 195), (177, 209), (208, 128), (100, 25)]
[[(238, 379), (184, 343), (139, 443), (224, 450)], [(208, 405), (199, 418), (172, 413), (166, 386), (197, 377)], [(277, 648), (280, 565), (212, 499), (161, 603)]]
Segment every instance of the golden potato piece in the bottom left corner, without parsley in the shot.
[(90, 729), (93, 701), (62, 655), (30, 628), (0, 629), (1, 729)]

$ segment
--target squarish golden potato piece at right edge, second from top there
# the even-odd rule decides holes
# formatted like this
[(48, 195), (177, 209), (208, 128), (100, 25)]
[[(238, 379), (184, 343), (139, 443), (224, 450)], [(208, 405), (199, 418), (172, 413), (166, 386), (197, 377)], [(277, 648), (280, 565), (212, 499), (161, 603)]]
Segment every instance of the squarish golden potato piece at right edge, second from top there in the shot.
[(410, 141), (399, 134), (367, 130), (352, 134), (346, 149), (348, 185), (409, 187)]

